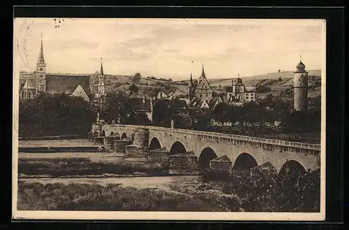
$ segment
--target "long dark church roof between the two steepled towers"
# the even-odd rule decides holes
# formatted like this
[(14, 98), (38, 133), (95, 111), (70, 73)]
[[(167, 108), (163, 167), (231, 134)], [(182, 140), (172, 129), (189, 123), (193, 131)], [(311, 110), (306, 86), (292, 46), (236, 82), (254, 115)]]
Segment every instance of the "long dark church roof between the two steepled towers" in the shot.
[(81, 85), (87, 94), (91, 92), (89, 76), (46, 74), (46, 92), (72, 94), (78, 85)]

